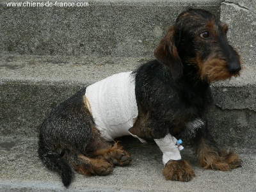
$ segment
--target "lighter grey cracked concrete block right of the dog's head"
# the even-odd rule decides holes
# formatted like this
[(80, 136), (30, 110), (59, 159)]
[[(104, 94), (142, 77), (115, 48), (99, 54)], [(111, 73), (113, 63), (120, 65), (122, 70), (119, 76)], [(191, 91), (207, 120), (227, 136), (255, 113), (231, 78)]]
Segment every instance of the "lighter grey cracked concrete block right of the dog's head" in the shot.
[(228, 39), (241, 52), (244, 67), (255, 66), (256, 1), (225, 1), (221, 3), (220, 18), (228, 23)]

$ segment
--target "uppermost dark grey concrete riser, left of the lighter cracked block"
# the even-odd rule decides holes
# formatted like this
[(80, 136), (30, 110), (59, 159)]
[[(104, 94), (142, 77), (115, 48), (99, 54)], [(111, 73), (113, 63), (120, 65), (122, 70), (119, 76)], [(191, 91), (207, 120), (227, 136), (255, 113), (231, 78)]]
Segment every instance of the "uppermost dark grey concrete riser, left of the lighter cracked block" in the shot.
[(24, 1), (25, 6), (15, 7), (6, 2), (0, 3), (0, 52), (115, 57), (152, 56), (180, 12), (193, 7), (220, 15), (221, 4), (221, 0), (97, 0), (82, 1), (88, 2), (82, 7), (29, 7), (31, 1)]

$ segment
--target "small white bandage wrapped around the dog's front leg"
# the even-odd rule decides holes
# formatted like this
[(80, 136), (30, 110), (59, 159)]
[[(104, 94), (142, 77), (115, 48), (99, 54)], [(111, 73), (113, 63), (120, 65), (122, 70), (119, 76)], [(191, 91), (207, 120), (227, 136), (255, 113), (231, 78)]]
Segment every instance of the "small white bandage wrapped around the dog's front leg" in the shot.
[(170, 160), (181, 159), (180, 150), (178, 148), (177, 139), (173, 137), (170, 133), (162, 139), (155, 140), (156, 144), (159, 146), (163, 152), (163, 163), (164, 165)]

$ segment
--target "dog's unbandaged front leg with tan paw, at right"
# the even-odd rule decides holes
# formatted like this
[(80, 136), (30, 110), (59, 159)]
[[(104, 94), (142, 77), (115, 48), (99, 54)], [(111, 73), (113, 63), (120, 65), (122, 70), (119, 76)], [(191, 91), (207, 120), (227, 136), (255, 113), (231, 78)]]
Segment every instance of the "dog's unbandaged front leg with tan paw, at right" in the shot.
[(234, 152), (220, 150), (213, 140), (207, 124), (198, 129), (194, 138), (196, 154), (200, 165), (205, 169), (228, 171), (241, 167), (241, 159)]

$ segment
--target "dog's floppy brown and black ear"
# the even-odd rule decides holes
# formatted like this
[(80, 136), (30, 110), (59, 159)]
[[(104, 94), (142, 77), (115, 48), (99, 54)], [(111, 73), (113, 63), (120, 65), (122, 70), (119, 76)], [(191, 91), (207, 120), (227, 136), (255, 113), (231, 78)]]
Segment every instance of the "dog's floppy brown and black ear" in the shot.
[(170, 68), (172, 77), (174, 81), (176, 81), (182, 76), (183, 68), (179, 53), (177, 51), (177, 47), (175, 46), (173, 28), (173, 26), (170, 26), (167, 34), (164, 36), (164, 38), (161, 40), (160, 44), (156, 48), (154, 56), (157, 58), (158, 61), (160, 61), (164, 65), (167, 65)]

